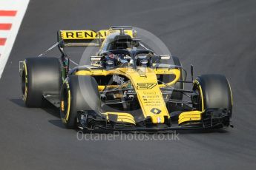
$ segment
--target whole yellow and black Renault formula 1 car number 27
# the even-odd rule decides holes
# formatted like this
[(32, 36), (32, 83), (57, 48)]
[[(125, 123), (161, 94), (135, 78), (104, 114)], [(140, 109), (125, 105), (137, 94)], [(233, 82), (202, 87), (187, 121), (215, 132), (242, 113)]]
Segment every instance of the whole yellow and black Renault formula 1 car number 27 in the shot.
[[(232, 126), (232, 90), (223, 75), (187, 81), (180, 59), (142, 45), (133, 27), (59, 30), (60, 58), (26, 58), (20, 64), (27, 107), (44, 100), (59, 108), (69, 129), (171, 130)], [(65, 48), (97, 46), (91, 65), (70, 69)], [(194, 79), (194, 80), (193, 80)], [(192, 89), (184, 89), (191, 84)]]

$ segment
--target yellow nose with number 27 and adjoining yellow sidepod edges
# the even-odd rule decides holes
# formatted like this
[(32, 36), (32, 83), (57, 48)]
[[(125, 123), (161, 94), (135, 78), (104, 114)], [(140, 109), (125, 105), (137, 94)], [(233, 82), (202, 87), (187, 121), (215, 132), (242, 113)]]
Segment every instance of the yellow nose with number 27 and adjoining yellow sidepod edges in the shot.
[[(137, 70), (131, 67), (116, 68), (112, 70), (91, 69), (80, 70), (75, 75), (123, 75), (127, 77), (134, 90), (137, 92), (137, 98), (145, 118), (151, 118), (152, 123), (164, 123), (165, 117), (170, 118), (168, 109), (165, 106), (160, 86), (157, 82), (157, 74), (175, 75), (174, 80), (168, 82), (168, 85), (175, 84), (180, 78), (180, 69), (151, 69), (147, 67), (138, 67)], [(103, 90), (103, 86), (98, 86)], [(106, 114), (106, 113), (105, 113)], [(109, 113), (108, 113), (109, 114)], [(119, 114), (119, 113), (111, 113)]]

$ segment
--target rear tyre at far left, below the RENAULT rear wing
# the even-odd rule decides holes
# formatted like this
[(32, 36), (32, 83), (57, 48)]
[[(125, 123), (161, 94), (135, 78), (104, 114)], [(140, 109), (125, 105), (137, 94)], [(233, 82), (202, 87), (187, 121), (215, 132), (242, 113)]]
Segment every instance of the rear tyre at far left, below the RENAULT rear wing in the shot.
[(26, 58), (22, 67), (22, 99), (27, 107), (41, 107), (43, 95), (59, 95), (62, 85), (57, 58)]

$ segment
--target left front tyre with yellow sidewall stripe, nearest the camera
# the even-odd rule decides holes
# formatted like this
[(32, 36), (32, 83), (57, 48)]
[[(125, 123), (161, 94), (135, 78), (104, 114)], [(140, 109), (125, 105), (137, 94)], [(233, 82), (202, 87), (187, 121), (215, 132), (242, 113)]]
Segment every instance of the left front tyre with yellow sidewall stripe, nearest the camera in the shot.
[(68, 129), (76, 128), (77, 112), (99, 107), (98, 84), (91, 76), (71, 75), (62, 85), (60, 117)]

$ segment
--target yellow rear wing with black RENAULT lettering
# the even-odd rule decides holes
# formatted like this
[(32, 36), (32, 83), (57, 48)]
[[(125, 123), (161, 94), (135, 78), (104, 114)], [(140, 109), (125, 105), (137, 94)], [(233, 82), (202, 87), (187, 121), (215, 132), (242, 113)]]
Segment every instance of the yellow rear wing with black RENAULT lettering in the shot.
[(130, 26), (113, 26), (108, 30), (59, 30), (58, 42), (60, 47), (99, 46), (111, 33), (122, 33), (135, 38), (137, 33)]

